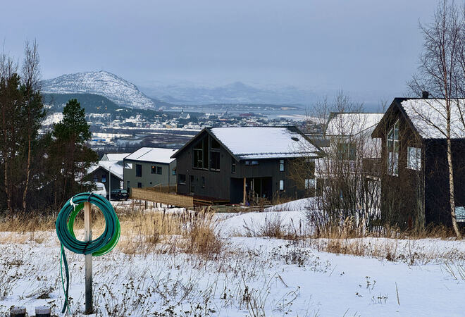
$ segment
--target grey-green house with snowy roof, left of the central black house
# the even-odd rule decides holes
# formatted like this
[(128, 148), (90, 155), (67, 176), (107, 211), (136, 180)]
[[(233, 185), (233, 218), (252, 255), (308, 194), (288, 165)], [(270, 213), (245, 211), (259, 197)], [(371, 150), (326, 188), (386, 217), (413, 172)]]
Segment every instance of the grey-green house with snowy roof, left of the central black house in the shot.
[(176, 185), (177, 149), (141, 147), (123, 159), (124, 187), (171, 187)]

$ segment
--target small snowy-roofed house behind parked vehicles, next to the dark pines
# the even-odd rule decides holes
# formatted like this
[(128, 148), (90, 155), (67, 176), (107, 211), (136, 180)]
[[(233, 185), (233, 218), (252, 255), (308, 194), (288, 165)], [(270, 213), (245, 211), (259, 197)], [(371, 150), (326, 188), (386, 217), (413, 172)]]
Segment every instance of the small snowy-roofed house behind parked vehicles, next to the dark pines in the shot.
[(123, 163), (118, 163), (118, 161), (101, 160), (99, 163), (92, 165), (89, 170), (87, 170), (87, 174), (87, 178), (89, 178), (92, 182), (103, 183), (105, 185), (106, 192), (122, 188)]

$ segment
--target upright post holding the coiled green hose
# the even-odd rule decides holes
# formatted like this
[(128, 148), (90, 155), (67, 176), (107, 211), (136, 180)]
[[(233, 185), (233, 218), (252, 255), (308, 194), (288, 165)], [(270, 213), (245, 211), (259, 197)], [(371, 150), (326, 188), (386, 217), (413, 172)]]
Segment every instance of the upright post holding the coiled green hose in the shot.
[[(84, 241), (92, 240), (92, 207), (84, 203)], [(85, 255), (85, 314), (94, 312), (92, 303), (92, 254)]]

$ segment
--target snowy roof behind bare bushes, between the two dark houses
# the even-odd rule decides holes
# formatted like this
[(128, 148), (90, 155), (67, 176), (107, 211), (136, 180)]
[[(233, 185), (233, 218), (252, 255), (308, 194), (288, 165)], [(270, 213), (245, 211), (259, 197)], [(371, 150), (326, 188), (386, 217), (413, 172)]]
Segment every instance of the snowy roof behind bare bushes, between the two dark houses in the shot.
[(326, 135), (356, 135), (378, 125), (384, 113), (334, 113), (330, 116)]

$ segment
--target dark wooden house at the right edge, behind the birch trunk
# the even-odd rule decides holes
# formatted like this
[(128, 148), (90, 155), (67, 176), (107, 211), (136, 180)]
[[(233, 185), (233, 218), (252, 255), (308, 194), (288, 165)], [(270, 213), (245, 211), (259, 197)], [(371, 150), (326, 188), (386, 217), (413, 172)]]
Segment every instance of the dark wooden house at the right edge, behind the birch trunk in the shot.
[[(386, 223), (451, 225), (443, 99), (395, 98), (373, 130), (380, 138), (381, 215)], [(464, 106), (464, 100), (454, 101)], [(452, 105), (451, 139), (456, 211), (465, 206), (465, 132)], [(457, 218), (459, 220), (459, 218)]]

